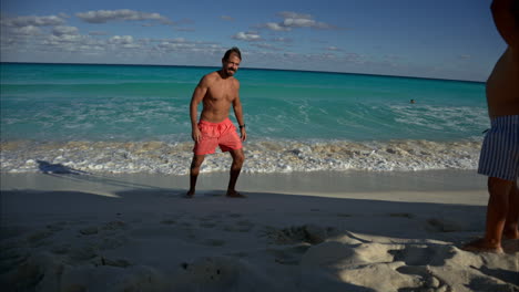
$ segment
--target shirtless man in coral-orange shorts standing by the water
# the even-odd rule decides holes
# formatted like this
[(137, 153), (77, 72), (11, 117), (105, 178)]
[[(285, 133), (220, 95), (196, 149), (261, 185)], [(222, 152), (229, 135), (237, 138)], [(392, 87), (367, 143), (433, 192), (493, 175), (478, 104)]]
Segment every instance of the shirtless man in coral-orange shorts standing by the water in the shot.
[[(216, 146), (220, 146), (222, 152), (230, 152), (233, 157), (227, 197), (245, 197), (235, 190), (236, 180), (245, 159), (242, 142), (245, 142), (247, 138), (238, 94), (240, 82), (233, 76), (240, 66), (240, 62), (242, 62), (240, 50), (237, 48), (230, 49), (222, 59), (222, 69), (203, 76), (194, 90), (193, 97), (191, 98), (190, 115), (192, 138), (195, 142), (195, 146), (193, 148), (193, 161), (191, 163), (187, 198), (192, 198), (195, 194), (196, 178), (199, 177), (200, 167), (204, 161), (205, 155), (213, 154)], [(200, 102), (202, 102), (203, 108), (200, 122), (197, 123)], [(236, 127), (228, 118), (231, 105), (240, 124), (241, 137), (238, 137)]]

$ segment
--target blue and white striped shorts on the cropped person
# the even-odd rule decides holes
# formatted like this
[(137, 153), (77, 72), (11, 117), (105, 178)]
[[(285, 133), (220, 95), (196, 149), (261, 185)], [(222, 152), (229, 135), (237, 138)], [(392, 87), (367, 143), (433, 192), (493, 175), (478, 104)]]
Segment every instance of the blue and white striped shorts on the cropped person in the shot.
[(491, 121), (479, 157), (478, 174), (505, 180), (519, 177), (519, 115)]

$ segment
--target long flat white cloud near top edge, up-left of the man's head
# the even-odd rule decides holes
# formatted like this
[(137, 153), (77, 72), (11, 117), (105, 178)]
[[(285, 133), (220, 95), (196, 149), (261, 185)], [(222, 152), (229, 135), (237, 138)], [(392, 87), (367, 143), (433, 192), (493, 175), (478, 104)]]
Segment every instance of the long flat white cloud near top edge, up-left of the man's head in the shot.
[(75, 13), (75, 15), (89, 23), (106, 23), (109, 21), (143, 21), (153, 20), (162, 24), (174, 24), (170, 19), (159, 13), (147, 13), (130, 9), (98, 10)]

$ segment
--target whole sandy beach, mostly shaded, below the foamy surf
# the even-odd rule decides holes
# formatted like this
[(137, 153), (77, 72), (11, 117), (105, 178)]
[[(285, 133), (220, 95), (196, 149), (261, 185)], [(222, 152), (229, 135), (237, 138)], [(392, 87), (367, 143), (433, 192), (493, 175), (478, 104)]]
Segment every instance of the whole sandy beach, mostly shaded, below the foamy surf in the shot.
[(1, 175), (2, 291), (519, 291), (474, 171)]

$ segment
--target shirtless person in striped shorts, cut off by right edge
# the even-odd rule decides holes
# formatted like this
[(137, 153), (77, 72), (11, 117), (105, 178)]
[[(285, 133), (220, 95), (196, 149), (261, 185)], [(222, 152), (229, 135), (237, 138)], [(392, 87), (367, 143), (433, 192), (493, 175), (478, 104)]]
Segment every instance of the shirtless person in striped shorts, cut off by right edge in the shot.
[(519, 239), (519, 1), (493, 0), (491, 11), (508, 48), (487, 81), (491, 128), (478, 173), (488, 176), (490, 198), (485, 237), (462, 249), (502, 252), (502, 237)]

